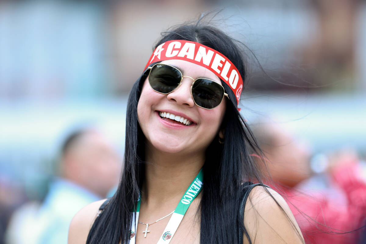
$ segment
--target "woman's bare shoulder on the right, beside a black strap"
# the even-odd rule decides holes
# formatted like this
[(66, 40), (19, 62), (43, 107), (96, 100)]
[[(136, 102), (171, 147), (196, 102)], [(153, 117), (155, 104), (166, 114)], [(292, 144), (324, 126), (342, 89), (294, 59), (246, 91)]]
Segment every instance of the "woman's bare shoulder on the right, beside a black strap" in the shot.
[[(254, 187), (244, 210), (244, 225), (253, 244), (305, 243), (290, 207), (273, 189)], [(243, 243), (249, 243), (244, 238)]]

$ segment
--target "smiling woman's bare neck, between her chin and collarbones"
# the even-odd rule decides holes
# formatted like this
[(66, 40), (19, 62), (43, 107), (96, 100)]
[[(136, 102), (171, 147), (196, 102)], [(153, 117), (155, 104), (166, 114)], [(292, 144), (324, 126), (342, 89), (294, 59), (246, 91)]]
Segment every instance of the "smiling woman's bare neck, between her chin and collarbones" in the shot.
[(142, 203), (175, 207), (202, 168), (205, 156), (146, 152), (145, 161)]

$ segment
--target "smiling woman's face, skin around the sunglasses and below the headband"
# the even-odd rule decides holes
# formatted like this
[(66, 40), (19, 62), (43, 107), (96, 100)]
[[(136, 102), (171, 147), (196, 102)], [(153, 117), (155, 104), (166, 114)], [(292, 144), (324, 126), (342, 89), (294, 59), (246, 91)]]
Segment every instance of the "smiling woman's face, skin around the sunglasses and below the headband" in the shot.
[[(183, 76), (187, 75), (193, 79), (208, 78), (221, 84), (212, 71), (200, 65), (184, 60), (166, 60), (161, 63), (178, 68)], [(165, 153), (204, 153), (219, 131), (226, 98), (216, 108), (204, 109), (195, 105), (193, 101), (190, 93), (193, 80), (189, 77), (183, 77), (178, 89), (169, 94), (154, 91), (147, 79), (137, 106), (138, 120), (147, 146)], [(161, 112), (183, 117), (192, 123), (185, 125), (161, 117)]]

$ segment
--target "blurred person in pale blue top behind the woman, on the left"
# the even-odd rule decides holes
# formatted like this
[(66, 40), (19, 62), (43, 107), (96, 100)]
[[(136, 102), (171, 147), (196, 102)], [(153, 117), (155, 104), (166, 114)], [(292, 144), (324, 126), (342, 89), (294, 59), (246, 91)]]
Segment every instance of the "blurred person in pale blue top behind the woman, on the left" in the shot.
[(7, 243), (66, 244), (72, 217), (117, 185), (121, 163), (112, 143), (88, 128), (68, 136), (59, 166), (60, 177), (50, 184), (41, 206), (30, 203), (15, 213)]

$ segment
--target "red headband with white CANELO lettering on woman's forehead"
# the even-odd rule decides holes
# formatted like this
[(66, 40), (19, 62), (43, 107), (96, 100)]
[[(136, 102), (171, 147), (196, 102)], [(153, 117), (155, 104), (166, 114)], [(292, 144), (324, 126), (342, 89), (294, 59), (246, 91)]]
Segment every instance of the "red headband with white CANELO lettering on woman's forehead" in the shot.
[(185, 60), (201, 65), (219, 76), (234, 92), (236, 104), (239, 104), (243, 90), (243, 79), (231, 61), (208, 46), (193, 41), (173, 40), (157, 46), (146, 64), (146, 68), (156, 62), (170, 59)]

